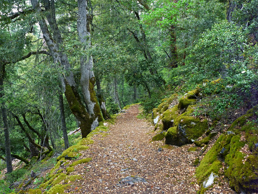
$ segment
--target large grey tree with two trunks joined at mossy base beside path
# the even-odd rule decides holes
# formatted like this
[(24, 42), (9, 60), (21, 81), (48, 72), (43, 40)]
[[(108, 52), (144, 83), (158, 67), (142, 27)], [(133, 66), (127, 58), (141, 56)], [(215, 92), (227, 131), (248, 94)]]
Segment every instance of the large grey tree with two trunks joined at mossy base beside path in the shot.
[[(85, 4), (85, 2), (81, 0), (78, 1), (79, 23), (84, 22), (85, 20), (87, 21), (87, 13), (86, 13), (87, 3), (86, 3), (86, 6), (83, 5), (83, 3)], [(92, 57), (87, 55), (81, 56), (81, 65), (82, 65), (81, 85), (82, 85), (84, 99), (87, 105), (87, 109), (86, 109), (78, 94), (73, 73), (70, 71), (70, 64), (68, 62), (67, 55), (65, 54), (65, 52), (63, 52), (64, 42), (57, 25), (55, 1), (43, 0), (43, 4), (46, 10), (44, 15), (42, 14), (41, 7), (39, 5), (38, 0), (31, 0), (31, 4), (35, 12), (38, 13), (39, 15), (39, 18), (40, 18), (39, 25), (43, 33), (43, 37), (46, 40), (47, 46), (50, 50), (50, 54), (53, 57), (54, 62), (60, 63), (63, 66), (63, 69), (65, 70), (65, 73), (63, 75), (64, 77), (62, 78), (63, 88), (65, 89), (65, 97), (67, 99), (71, 112), (79, 121), (82, 137), (86, 137), (90, 133), (91, 129), (96, 127), (99, 121), (103, 120), (100, 107), (97, 102), (96, 94), (94, 91), (95, 78), (92, 72), (92, 65), (93, 65)], [(83, 14), (80, 13), (80, 11)], [(48, 29), (45, 16), (48, 20), (49, 26), (53, 33), (53, 37), (50, 33), (50, 30)], [(82, 30), (82, 33), (86, 32), (85, 34), (87, 35), (86, 26), (87, 25), (89, 26), (90, 24), (89, 23), (87, 24), (87, 22), (80, 23), (80, 24), (81, 24), (81, 27), (79, 27), (80, 29), (84, 27), (84, 29)], [(80, 38), (84, 38), (85, 40), (87, 40), (88, 36), (81, 36)], [(85, 46), (86, 48), (86, 45), (88, 45), (88, 42), (86, 41), (85, 44), (84, 42), (82, 43), (83, 43), (82, 45)]]

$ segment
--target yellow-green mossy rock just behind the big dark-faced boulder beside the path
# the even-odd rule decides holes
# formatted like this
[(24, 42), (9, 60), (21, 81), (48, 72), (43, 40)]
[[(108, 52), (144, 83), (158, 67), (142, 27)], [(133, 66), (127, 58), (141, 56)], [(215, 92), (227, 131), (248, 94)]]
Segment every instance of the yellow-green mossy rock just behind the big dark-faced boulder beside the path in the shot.
[(163, 123), (163, 129), (167, 130), (168, 128), (173, 126), (174, 120), (179, 116), (178, 106), (175, 105), (173, 108), (170, 108), (163, 112), (161, 117), (161, 121)]

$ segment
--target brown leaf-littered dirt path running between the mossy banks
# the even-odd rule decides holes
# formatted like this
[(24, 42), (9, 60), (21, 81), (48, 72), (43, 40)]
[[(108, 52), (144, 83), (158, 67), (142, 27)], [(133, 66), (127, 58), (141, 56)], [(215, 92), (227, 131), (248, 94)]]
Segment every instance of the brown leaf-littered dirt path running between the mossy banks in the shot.
[[(199, 186), (193, 162), (199, 151), (188, 152), (194, 144), (164, 147), (162, 141), (151, 142), (154, 127), (136, 117), (138, 108), (134, 105), (120, 114), (109, 126), (107, 136), (92, 137), (94, 143), (81, 152), (82, 158), (92, 160), (75, 166), (70, 175), (82, 179), (67, 187), (65, 193), (196, 194)], [(129, 180), (122, 180), (126, 177)], [(235, 194), (226, 182), (215, 184), (206, 193)]]

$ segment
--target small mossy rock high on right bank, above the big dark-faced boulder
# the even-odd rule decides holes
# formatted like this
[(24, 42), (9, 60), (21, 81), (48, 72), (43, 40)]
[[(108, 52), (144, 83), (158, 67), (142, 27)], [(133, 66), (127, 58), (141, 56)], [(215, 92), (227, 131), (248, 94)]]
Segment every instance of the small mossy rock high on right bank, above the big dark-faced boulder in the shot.
[(197, 102), (197, 97), (199, 96), (200, 91), (198, 89), (195, 89), (193, 91), (190, 91), (183, 97), (179, 99), (178, 107), (179, 109), (187, 108), (187, 106), (195, 104)]

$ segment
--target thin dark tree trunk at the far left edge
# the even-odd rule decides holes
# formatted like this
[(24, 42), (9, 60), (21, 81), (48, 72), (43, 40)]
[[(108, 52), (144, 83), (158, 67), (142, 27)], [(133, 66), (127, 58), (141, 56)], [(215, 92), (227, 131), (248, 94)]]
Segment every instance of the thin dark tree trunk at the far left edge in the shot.
[[(2, 99), (4, 97), (4, 87), (3, 87), (4, 76), (5, 76), (5, 66), (0, 61), (0, 99)], [(8, 131), (7, 111), (5, 108), (4, 99), (1, 100), (0, 105), (1, 105), (3, 131), (4, 131), (6, 168), (7, 168), (7, 173), (11, 173), (12, 172), (12, 164), (11, 164), (10, 137), (9, 137), (9, 131)]]

